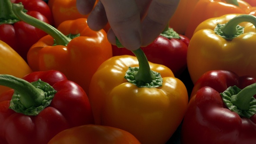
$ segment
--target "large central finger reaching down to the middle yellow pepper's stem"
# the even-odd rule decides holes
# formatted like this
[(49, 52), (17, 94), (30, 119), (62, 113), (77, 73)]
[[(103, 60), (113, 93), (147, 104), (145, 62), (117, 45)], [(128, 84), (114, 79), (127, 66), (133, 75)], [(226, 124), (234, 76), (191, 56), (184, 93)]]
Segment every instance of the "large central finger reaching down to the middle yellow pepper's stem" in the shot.
[[(108, 23), (120, 43), (129, 50), (141, 46), (140, 10), (135, 0), (101, 0)], [(112, 36), (112, 35), (109, 35)], [(113, 36), (109, 39), (114, 39)]]

